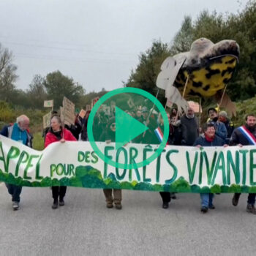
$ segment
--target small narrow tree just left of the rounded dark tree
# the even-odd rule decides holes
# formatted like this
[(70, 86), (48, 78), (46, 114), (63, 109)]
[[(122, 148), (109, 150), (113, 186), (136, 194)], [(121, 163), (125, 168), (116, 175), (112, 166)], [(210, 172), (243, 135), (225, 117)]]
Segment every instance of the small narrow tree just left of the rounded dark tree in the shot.
[(47, 98), (44, 86), (44, 78), (41, 75), (34, 75), (34, 78), (26, 90), (28, 100), (32, 108), (43, 108), (43, 102)]

